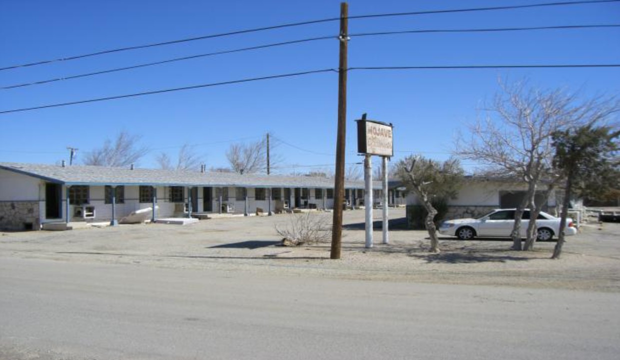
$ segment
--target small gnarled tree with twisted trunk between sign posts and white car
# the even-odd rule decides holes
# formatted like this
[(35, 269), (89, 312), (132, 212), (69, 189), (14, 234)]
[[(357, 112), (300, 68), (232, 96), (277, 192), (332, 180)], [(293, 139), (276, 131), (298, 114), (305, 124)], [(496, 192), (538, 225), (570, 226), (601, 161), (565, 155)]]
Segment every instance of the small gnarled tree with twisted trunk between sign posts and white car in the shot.
[(443, 163), (419, 156), (409, 156), (397, 165), (397, 172), (407, 191), (413, 191), (427, 211), (426, 229), (430, 237), (431, 252), (440, 252), (433, 199), (454, 198), (461, 186), (464, 171), (458, 159)]

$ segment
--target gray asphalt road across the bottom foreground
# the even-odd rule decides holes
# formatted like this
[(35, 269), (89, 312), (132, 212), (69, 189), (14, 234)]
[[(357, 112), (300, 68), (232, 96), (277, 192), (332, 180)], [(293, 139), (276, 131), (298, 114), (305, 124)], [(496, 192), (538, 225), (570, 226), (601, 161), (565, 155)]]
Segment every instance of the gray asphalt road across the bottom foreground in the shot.
[(620, 294), (0, 257), (0, 359), (618, 359)]

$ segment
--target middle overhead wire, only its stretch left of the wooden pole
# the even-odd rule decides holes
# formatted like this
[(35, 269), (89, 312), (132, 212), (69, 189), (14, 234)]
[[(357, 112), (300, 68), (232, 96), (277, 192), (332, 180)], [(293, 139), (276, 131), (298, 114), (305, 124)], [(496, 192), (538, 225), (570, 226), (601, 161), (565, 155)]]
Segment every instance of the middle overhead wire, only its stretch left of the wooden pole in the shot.
[(168, 59), (168, 60), (163, 60), (163, 61), (156, 61), (154, 63), (146, 63), (146, 64), (138, 64), (138, 65), (134, 65), (134, 66), (126, 66), (125, 68), (108, 69), (108, 70), (103, 70), (103, 71), (89, 72), (87, 74), (79, 74), (79, 75), (73, 75), (73, 76), (64, 76), (64, 77), (58, 77), (56, 79), (48, 79), (48, 80), (35, 81), (35, 82), (29, 82), (29, 83), (24, 83), (24, 84), (4, 86), (4, 87), (0, 87), (0, 89), (6, 90), (6, 89), (14, 89), (15, 87), (24, 87), (24, 86), (33, 86), (33, 85), (47, 84), (48, 82), (56, 82), (56, 81), (63, 81), (63, 80), (70, 80), (70, 79), (78, 79), (79, 77), (95, 76), (95, 75), (101, 75), (101, 74), (109, 74), (110, 72), (125, 71), (125, 70), (138, 69), (138, 68), (146, 68), (147, 66), (154, 66), (154, 65), (161, 65), (161, 64), (167, 64), (167, 63), (174, 63), (175, 61), (184, 61), (184, 60), (189, 60), (189, 59), (204, 58), (206, 56), (215, 56), (215, 55), (223, 55), (223, 54), (230, 54), (230, 53), (239, 53), (241, 51), (258, 50), (258, 49), (263, 49), (263, 48), (270, 48), (270, 47), (273, 47), (273, 46), (291, 45), (291, 44), (296, 44), (296, 43), (312, 42), (312, 41), (316, 41), (316, 40), (326, 40), (326, 39), (334, 39), (334, 38), (337, 38), (337, 37), (329, 36), (329, 37), (306, 38), (306, 39), (301, 39), (301, 40), (293, 40), (293, 41), (290, 41), (290, 42), (281, 42), (281, 43), (272, 43), (272, 44), (267, 44), (267, 45), (251, 46), (249, 48), (216, 51), (215, 53), (206, 53), (206, 54), (200, 54), (200, 55), (184, 56), (182, 58), (174, 58), (174, 59)]

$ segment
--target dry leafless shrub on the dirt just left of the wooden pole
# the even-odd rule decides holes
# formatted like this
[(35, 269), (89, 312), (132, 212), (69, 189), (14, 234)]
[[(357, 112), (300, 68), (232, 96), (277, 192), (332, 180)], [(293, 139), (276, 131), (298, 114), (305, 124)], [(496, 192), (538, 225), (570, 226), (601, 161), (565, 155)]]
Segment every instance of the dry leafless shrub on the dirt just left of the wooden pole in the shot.
[(332, 237), (332, 222), (329, 214), (289, 214), (288, 223), (275, 230), (280, 234), (282, 245), (299, 246), (326, 242)]

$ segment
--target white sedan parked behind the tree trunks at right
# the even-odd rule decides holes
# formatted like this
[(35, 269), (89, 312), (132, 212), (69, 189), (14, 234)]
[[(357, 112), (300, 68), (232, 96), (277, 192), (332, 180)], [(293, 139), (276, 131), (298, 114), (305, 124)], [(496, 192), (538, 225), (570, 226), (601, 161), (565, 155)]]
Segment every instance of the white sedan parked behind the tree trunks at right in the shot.
[[(516, 209), (495, 209), (477, 219), (456, 219), (444, 221), (439, 227), (442, 235), (456, 236), (461, 240), (470, 240), (478, 237), (510, 237), (510, 232), (515, 225)], [(523, 211), (521, 217), (521, 237), (526, 237), (525, 233), (529, 224), (529, 210)], [(551, 240), (554, 235), (560, 233), (560, 218), (549, 215), (541, 211), (536, 218), (537, 239)], [(572, 219), (566, 219), (566, 229), (564, 235), (577, 234), (577, 228)]]

